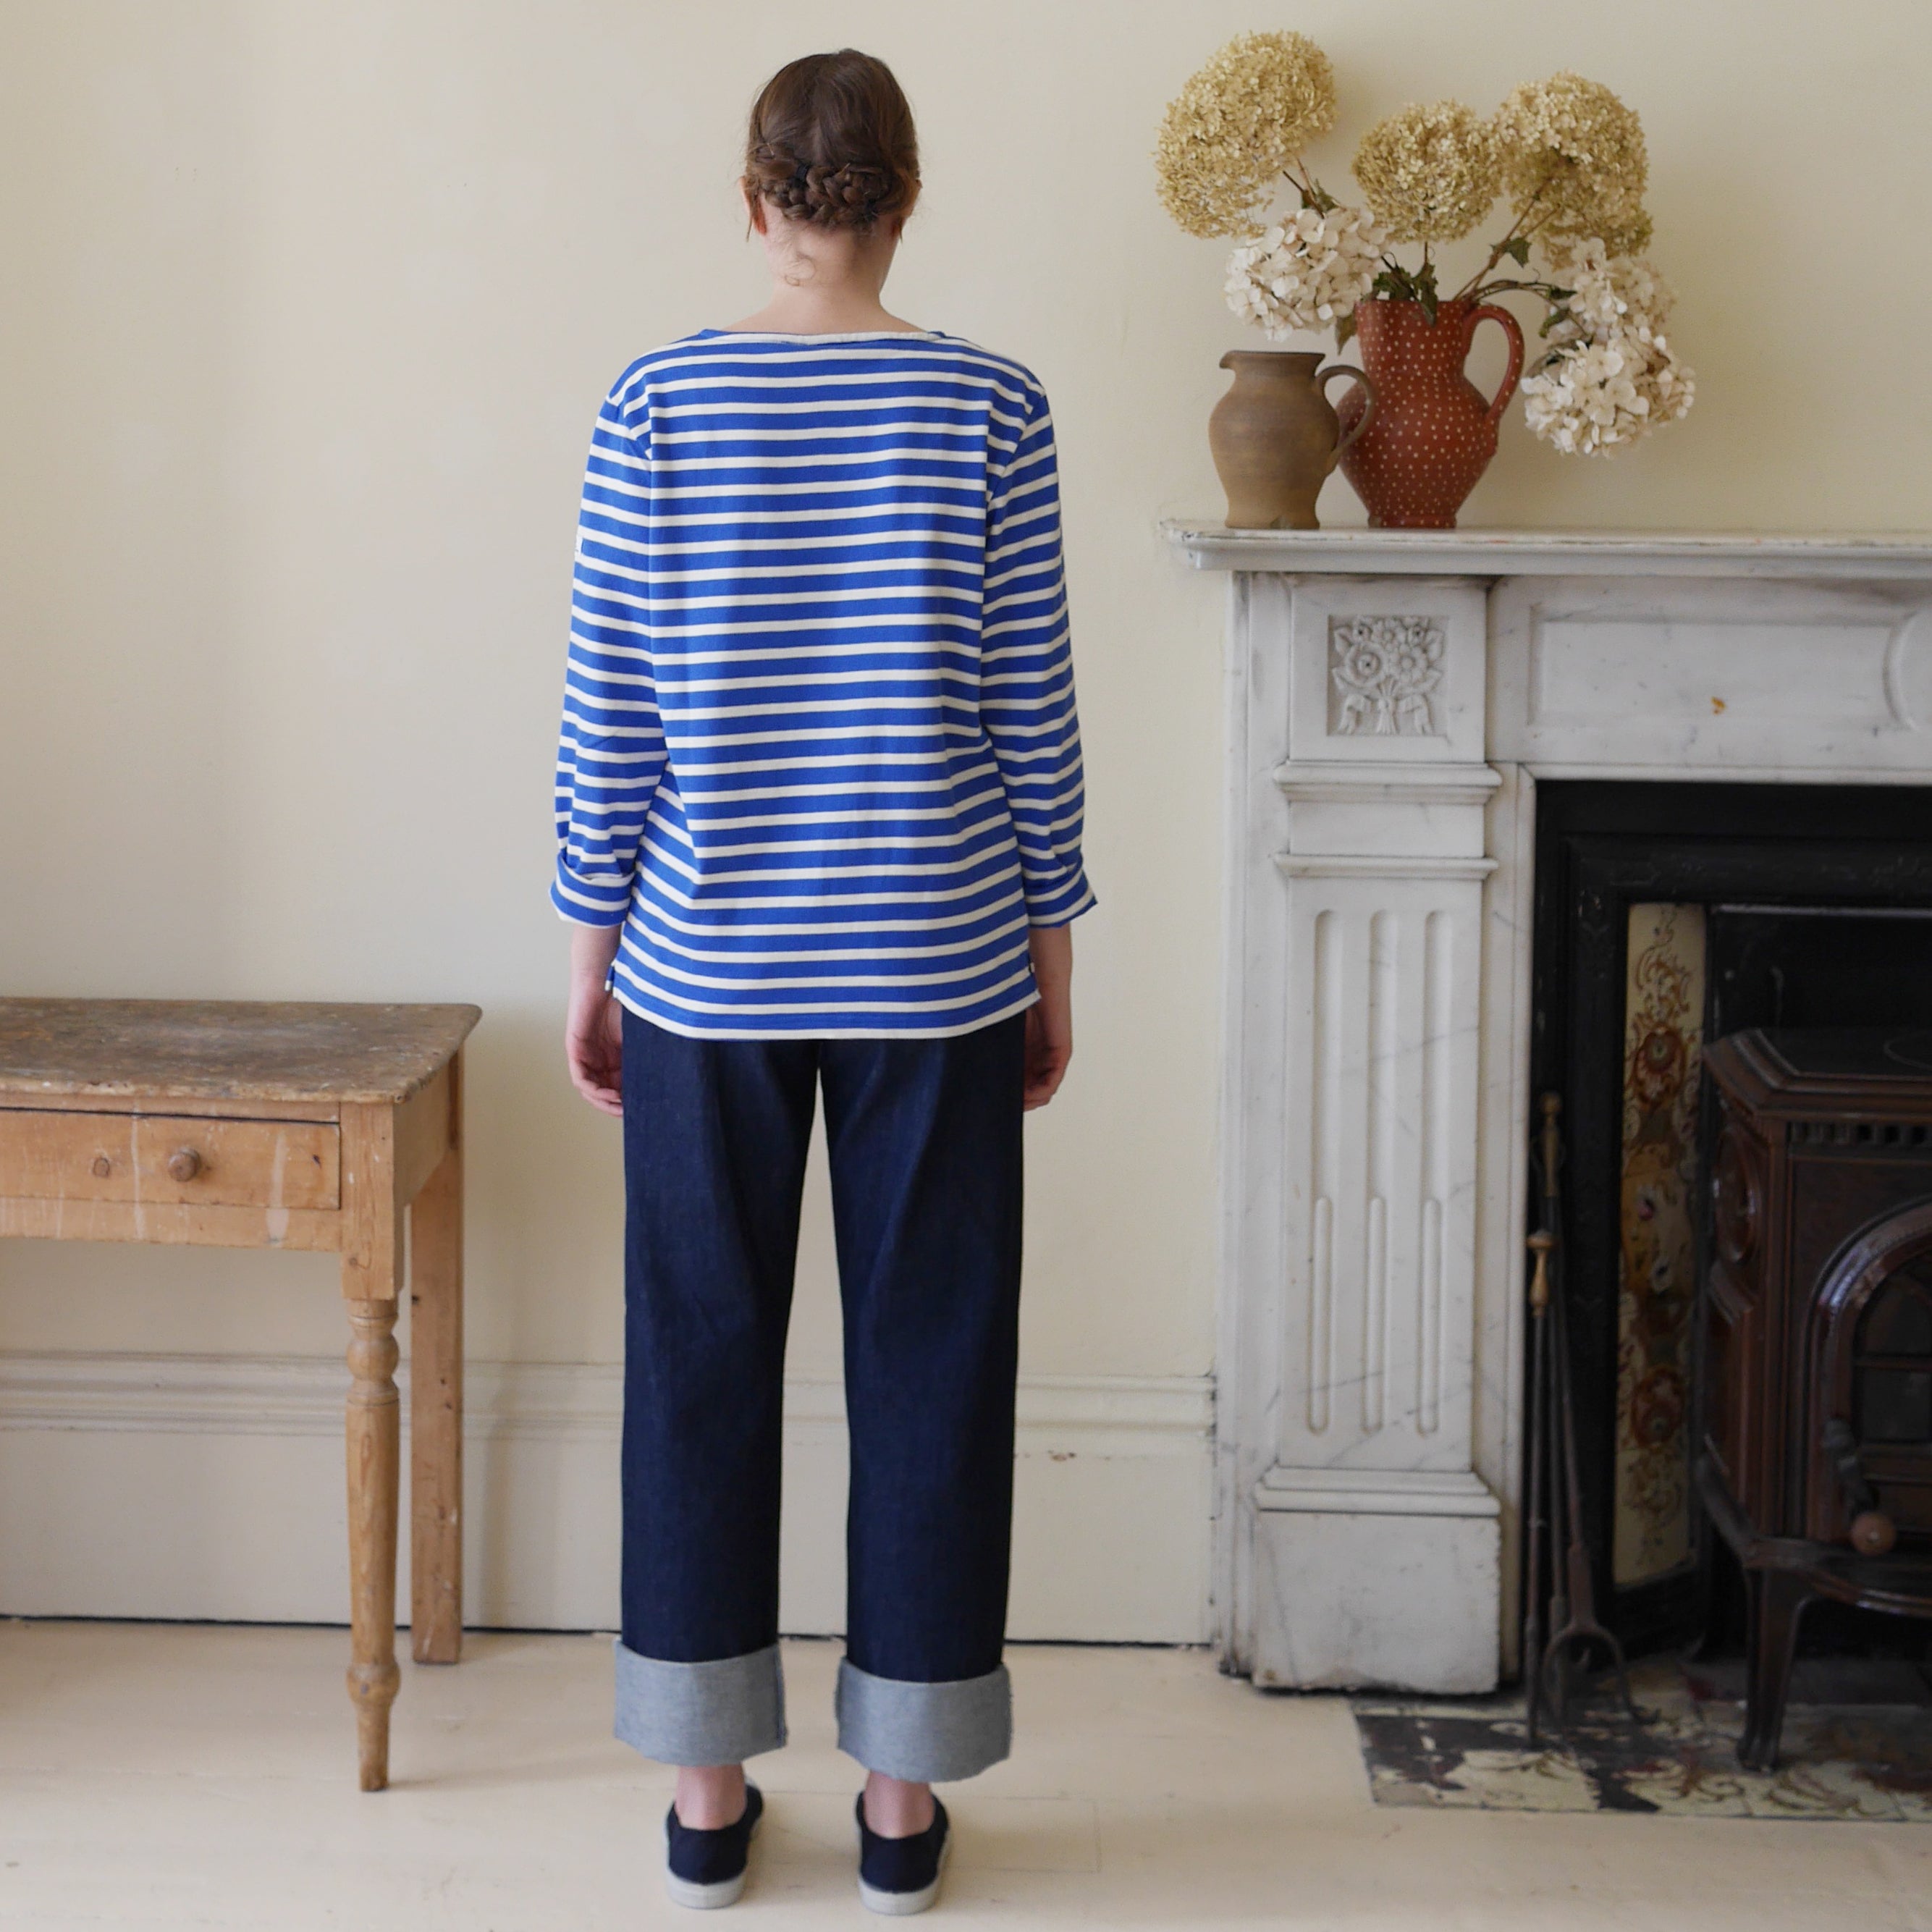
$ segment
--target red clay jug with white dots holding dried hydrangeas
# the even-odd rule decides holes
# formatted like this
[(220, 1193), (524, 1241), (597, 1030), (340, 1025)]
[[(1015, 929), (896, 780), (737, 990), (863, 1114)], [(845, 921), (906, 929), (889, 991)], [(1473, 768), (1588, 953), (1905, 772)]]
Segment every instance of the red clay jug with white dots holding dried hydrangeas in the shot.
[[(1509, 367), (1493, 396), (1466, 375), (1476, 323), (1497, 323), (1509, 336)], [(1358, 301), (1354, 309), (1362, 367), (1376, 383), (1374, 423), (1354, 423), (1358, 404), (1343, 396), (1343, 427), (1356, 433), (1343, 448), (1341, 473), (1354, 485), (1378, 529), (1455, 529), (1455, 514), (1495, 456), (1495, 425), (1522, 375), (1522, 330), (1509, 309), (1486, 301), (1443, 301), (1435, 327), (1420, 301)]]

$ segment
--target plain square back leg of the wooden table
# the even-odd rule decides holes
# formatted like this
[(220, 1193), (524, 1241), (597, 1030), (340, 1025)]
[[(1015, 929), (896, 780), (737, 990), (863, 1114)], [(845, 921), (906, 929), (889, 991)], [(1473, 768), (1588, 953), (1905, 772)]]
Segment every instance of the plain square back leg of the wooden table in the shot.
[(410, 1209), (410, 1638), (417, 1663), (464, 1640), (464, 1161), (450, 1146)]

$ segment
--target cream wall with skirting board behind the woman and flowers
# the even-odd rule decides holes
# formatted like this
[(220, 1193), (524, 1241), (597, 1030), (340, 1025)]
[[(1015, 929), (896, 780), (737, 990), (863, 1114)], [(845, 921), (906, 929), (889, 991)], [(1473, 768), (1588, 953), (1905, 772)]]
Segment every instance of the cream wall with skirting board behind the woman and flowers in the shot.
[[(1466, 522), (1932, 526), (1932, 15), (1907, 0), (4, 10), (0, 989), (477, 1001), (469, 1350), (512, 1366), (497, 1383), (620, 1352), (616, 1130), (562, 1078), (543, 900), (589, 421), (638, 350), (761, 299), (732, 176), (765, 73), (838, 41), (895, 64), (929, 185), (891, 299), (1032, 363), (1066, 485), (1101, 910), (1078, 929), (1072, 1080), (1030, 1126), (1034, 1634), (1206, 1629), (1221, 605), (1155, 522), (1219, 504), (1215, 359), (1265, 344), (1221, 307), (1219, 245), (1155, 205), (1148, 147), (1180, 79), (1254, 25), (1333, 56), (1335, 187), (1406, 99), (1488, 106), (1575, 66), (1644, 116), (1698, 406), (1607, 464), (1513, 412)], [(1339, 481), (1323, 510), (1360, 520)], [(220, 1358), (203, 1383), (240, 1376), (267, 1416), (247, 1364), (332, 1374), (338, 1329), (317, 1258), (0, 1250), (0, 1420), (21, 1432), (0, 1437), (0, 1609), (139, 1607), (75, 1549), (77, 1524), (145, 1549), (143, 1482), (156, 1507), (199, 1490), (213, 1542), (272, 1546), (286, 1517), (249, 1486), (265, 1451), (205, 1439), (207, 1405), (178, 1408), (172, 1447), (83, 1455), (79, 1410), (21, 1387), (95, 1350)], [(792, 1364), (819, 1445), (794, 1503), (831, 1532), (823, 1215)], [(611, 1387), (570, 1389), (574, 1463), (514, 1430), (479, 1459), (485, 1617), (605, 1615)], [(307, 1443), (276, 1451), (288, 1484), (332, 1497), (327, 1416), (280, 1434)], [(164, 1607), (323, 1615), (336, 1588), (332, 1546), (313, 1575), (272, 1557), (267, 1594), (145, 1561), (124, 1588)], [(572, 1561), (572, 1590), (524, 1588)], [(825, 1563), (800, 1546), (792, 1621), (837, 1621)]]

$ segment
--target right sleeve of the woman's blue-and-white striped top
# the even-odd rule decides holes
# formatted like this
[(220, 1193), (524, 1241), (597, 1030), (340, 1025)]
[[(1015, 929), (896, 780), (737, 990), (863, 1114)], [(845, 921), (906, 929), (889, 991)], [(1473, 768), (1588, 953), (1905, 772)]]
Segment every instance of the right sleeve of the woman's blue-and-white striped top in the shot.
[(1094, 893), (1080, 864), (1086, 782), (1053, 415), (1034, 386), (1012, 456), (991, 477), (981, 611), (980, 721), (1020, 842), (1026, 918), (1065, 925), (1094, 904)]

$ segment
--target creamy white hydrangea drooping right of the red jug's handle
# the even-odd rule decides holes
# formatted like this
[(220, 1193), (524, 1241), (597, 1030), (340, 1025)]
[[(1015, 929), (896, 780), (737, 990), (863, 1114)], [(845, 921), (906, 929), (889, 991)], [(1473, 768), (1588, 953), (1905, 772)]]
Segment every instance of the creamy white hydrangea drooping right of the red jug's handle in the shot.
[(1677, 421), (1696, 379), (1663, 334), (1675, 299), (1663, 276), (1596, 236), (1546, 253), (1575, 294), (1549, 328), (1549, 354), (1522, 379), (1530, 429), (1567, 456), (1594, 456)]

